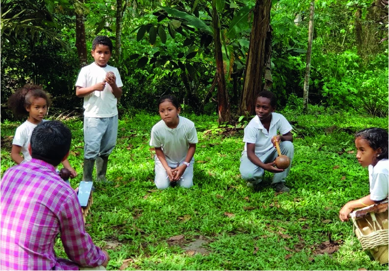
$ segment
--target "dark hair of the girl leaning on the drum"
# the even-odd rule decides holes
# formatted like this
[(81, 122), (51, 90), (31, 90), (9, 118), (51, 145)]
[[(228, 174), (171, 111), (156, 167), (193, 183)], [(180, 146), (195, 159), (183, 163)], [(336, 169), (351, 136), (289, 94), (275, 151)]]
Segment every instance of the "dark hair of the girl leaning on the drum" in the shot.
[(373, 150), (381, 148), (381, 153), (377, 160), (388, 159), (388, 131), (381, 128), (367, 128), (355, 134), (355, 139), (362, 138), (367, 141)]

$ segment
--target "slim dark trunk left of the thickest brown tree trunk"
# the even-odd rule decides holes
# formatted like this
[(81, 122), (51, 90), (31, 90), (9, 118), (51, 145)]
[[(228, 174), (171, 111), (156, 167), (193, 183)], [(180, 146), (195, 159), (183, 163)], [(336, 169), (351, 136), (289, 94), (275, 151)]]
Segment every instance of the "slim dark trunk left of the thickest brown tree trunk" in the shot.
[(218, 82), (218, 105), (219, 105), (219, 124), (231, 122), (230, 105), (228, 103), (228, 92), (225, 83), (225, 73), (223, 64), (223, 55), (221, 53), (220, 23), (219, 14), (216, 5), (212, 6), (215, 39), (215, 59), (216, 59), (216, 77)]

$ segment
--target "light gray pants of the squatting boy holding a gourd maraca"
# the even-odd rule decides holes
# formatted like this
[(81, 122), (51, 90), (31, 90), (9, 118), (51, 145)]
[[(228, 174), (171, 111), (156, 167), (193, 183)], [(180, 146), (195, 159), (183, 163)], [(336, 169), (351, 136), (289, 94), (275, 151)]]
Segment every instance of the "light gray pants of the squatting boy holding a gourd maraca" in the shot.
[[(292, 165), (292, 159), (294, 155), (294, 147), (293, 143), (291, 141), (281, 141), (280, 142), (280, 149), (281, 153), (283, 155), (286, 155), (287, 157), (291, 158), (291, 165)], [(263, 163), (270, 163), (277, 158), (277, 149), (271, 148), (267, 153), (265, 154), (255, 154)], [(275, 184), (277, 182), (285, 182), (285, 179), (288, 177), (289, 171), (291, 170), (291, 165), (287, 169), (285, 169), (283, 172), (280, 173), (274, 173), (273, 181), (271, 184)], [(259, 167), (255, 164), (253, 164), (248, 158), (245, 151), (242, 152), (241, 157), (241, 166), (239, 168), (242, 178), (244, 181), (251, 182), (253, 184), (260, 183), (262, 181), (262, 178), (264, 176), (265, 170), (262, 167)]]

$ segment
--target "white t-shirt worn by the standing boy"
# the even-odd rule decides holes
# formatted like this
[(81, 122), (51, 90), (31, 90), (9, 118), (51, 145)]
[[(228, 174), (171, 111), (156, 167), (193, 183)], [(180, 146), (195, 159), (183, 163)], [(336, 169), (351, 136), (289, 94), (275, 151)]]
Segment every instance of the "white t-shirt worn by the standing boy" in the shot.
[[(118, 88), (123, 86), (119, 70), (107, 65), (104, 68), (99, 67), (95, 62), (81, 68), (78, 74), (76, 87), (87, 88), (101, 83), (105, 79), (108, 71), (112, 71), (116, 76), (116, 85)], [(118, 114), (116, 107), (117, 99), (112, 93), (111, 86), (107, 83), (103, 91), (93, 91), (84, 97), (84, 116), (86, 117), (112, 117)]]

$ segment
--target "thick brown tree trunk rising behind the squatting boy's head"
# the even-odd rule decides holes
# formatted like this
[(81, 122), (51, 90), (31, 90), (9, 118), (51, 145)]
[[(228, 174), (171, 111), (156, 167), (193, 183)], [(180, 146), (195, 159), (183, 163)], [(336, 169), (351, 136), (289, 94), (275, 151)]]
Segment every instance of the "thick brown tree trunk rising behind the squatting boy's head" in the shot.
[(262, 90), (262, 72), (266, 63), (265, 41), (270, 19), (271, 0), (257, 0), (253, 10), (254, 20), (250, 34), (240, 115), (253, 115), (257, 94)]

